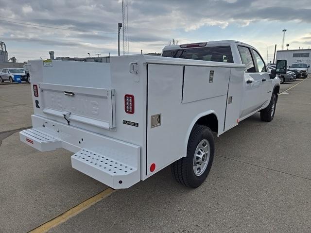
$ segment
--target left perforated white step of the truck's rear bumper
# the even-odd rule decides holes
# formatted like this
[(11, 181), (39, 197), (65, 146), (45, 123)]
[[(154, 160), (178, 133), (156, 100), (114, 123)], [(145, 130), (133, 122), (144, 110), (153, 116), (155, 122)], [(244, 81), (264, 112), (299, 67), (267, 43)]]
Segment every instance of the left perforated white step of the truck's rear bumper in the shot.
[(19, 138), (22, 142), (40, 151), (61, 148), (60, 139), (37, 129), (23, 130), (19, 132)]

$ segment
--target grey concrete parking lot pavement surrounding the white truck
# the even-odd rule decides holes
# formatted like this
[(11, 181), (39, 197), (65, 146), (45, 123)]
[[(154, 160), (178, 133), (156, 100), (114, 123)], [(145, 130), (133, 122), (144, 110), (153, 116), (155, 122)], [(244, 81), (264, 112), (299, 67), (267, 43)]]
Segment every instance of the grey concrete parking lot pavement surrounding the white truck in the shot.
[[(24, 102), (3, 99), (0, 86), (6, 117), (16, 106), (32, 110), (29, 85), (4, 86), (12, 86), (7, 94), (24, 93)], [(179, 185), (167, 167), (50, 232), (311, 232), (310, 116), (307, 79), (279, 96), (272, 122), (257, 114), (215, 139), (214, 164), (199, 188)], [(71, 168), (71, 152), (39, 152), (13, 132), (0, 133), (0, 232), (29, 231), (106, 188)]]

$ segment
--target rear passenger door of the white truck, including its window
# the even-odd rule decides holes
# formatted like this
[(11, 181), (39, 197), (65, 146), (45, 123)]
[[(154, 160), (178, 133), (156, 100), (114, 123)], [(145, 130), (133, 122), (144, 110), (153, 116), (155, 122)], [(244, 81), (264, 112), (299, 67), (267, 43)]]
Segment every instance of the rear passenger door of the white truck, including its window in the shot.
[(246, 66), (244, 71), (244, 95), (243, 107), (240, 118), (247, 116), (262, 106), (263, 100), (261, 96), (262, 77), (257, 72), (257, 67), (253, 59), (252, 51), (246, 46), (238, 45), (242, 63)]

